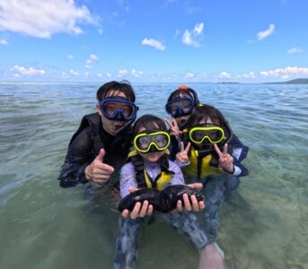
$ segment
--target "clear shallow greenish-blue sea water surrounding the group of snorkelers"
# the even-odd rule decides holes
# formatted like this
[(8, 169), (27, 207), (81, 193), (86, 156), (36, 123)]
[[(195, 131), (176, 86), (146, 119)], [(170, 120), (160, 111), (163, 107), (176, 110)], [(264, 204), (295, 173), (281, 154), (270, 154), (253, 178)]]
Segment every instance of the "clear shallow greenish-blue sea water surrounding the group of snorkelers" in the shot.
[[(67, 144), (100, 84), (0, 83), (0, 267), (112, 268), (119, 213), (109, 192), (58, 187)], [(165, 117), (176, 84), (135, 84), (139, 115)], [(217, 239), (228, 268), (308, 266), (308, 85), (190, 84), (243, 143), (250, 175), (224, 203)], [(187, 239), (157, 221), (140, 268), (197, 268)]]

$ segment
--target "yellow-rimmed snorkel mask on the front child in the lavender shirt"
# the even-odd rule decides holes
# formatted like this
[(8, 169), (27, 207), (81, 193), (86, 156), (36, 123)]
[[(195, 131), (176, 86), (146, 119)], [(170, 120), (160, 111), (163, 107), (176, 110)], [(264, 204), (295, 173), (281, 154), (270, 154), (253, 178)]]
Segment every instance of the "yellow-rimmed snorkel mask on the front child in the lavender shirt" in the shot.
[(163, 131), (137, 134), (134, 138), (134, 146), (141, 153), (163, 152), (168, 148), (170, 142), (170, 134)]

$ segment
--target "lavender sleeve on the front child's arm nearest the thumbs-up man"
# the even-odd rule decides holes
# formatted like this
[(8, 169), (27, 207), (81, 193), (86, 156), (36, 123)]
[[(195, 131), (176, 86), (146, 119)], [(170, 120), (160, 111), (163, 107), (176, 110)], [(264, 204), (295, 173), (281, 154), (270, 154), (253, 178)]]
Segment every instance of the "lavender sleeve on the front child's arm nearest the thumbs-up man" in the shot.
[(138, 187), (135, 178), (135, 168), (132, 162), (125, 164), (119, 173), (119, 192), (121, 198), (129, 195), (129, 187)]

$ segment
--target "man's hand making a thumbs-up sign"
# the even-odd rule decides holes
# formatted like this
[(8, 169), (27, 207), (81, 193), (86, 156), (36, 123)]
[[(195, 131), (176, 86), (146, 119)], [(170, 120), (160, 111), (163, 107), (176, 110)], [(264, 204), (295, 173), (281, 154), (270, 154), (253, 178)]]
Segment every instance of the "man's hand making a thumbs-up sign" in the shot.
[(105, 150), (101, 149), (100, 154), (84, 169), (85, 178), (97, 184), (105, 184), (110, 179), (114, 168), (103, 163)]

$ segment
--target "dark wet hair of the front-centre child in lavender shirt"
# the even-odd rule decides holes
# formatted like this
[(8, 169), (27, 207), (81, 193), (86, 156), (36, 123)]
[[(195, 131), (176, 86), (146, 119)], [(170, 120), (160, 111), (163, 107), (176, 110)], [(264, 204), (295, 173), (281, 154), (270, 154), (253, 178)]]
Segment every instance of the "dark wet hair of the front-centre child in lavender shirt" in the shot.
[[(133, 135), (140, 134), (139, 130), (144, 127), (145, 133), (150, 134), (158, 131), (167, 132), (167, 127), (163, 122), (163, 119), (160, 117), (156, 117), (151, 114), (146, 114), (142, 117), (139, 117), (134, 125)], [(144, 131), (143, 131), (144, 133)]]

